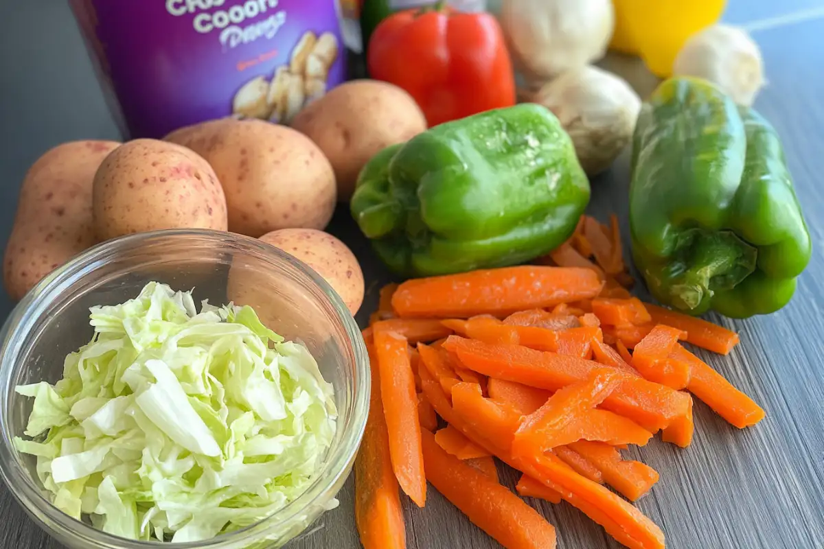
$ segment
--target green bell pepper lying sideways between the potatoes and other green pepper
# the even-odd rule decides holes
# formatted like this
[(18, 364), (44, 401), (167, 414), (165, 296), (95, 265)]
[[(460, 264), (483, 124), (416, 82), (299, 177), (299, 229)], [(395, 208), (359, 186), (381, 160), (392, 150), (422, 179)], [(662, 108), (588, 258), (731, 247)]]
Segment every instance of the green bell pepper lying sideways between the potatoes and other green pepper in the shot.
[(443, 123), (374, 156), (352, 215), (392, 271), (431, 276), (523, 263), (572, 235), (589, 182), (539, 105)]

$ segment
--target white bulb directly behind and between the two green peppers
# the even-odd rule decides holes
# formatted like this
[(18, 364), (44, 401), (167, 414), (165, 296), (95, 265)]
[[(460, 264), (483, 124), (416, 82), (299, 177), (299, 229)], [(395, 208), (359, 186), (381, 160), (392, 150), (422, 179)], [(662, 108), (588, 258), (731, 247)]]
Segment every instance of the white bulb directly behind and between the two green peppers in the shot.
[(532, 95), (558, 117), (588, 175), (606, 170), (632, 139), (641, 100), (611, 72), (585, 66), (548, 82)]

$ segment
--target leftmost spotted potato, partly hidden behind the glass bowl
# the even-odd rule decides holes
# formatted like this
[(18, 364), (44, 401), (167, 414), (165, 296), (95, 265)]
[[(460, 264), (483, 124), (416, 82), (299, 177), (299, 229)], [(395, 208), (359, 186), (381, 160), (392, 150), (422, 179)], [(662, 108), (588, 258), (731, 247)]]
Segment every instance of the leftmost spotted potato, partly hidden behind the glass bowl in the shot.
[(13, 300), (96, 244), (91, 185), (103, 159), (119, 146), (114, 141), (63, 143), (30, 167), (3, 256), (3, 282)]

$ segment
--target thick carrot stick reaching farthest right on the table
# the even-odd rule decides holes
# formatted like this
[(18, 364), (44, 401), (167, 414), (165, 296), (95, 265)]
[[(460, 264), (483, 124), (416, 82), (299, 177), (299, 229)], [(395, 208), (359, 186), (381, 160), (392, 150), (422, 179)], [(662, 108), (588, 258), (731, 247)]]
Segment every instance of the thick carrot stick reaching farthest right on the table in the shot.
[(730, 424), (744, 429), (764, 419), (764, 410), (756, 402), (733, 387), (705, 361), (680, 345), (671, 356), (690, 366), (690, 384), (686, 389)]

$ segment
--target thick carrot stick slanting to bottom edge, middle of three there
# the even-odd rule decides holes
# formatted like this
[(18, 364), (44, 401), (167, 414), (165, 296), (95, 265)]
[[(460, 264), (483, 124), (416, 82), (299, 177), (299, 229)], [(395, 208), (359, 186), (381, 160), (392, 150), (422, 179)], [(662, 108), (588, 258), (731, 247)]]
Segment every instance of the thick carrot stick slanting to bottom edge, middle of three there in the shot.
[(555, 528), (507, 488), (422, 437), (427, 479), (466, 517), (504, 547), (555, 549)]

